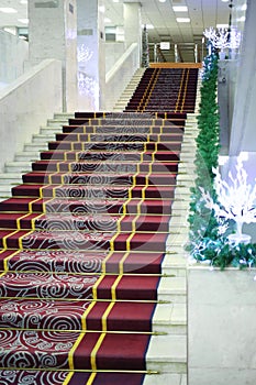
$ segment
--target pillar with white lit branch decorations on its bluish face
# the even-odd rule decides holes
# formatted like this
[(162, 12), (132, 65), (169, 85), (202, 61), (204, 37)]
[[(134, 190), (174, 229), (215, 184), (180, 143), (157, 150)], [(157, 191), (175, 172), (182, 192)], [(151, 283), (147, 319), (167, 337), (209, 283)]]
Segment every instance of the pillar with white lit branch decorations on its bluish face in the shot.
[(104, 109), (103, 0), (77, 0), (78, 109)]

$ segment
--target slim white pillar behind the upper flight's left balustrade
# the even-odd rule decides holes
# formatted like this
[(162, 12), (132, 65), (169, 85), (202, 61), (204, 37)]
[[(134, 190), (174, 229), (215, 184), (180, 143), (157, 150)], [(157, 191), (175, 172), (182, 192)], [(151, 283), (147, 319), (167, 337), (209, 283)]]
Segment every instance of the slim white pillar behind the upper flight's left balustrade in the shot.
[(142, 58), (142, 14), (140, 2), (123, 3), (124, 42), (127, 50), (131, 44), (137, 43), (138, 63)]

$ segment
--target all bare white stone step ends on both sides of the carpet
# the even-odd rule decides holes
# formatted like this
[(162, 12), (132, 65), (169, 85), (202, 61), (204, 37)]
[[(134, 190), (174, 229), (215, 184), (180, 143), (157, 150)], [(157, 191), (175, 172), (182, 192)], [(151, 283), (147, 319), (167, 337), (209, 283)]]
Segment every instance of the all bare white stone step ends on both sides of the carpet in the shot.
[[(144, 69), (133, 77), (114, 111), (123, 111), (127, 100)], [(136, 80), (135, 80), (136, 78)], [(198, 85), (198, 95), (200, 89)], [(130, 92), (130, 94), (129, 94)], [(130, 97), (129, 97), (130, 95)], [(126, 99), (125, 99), (126, 98)], [(126, 101), (125, 101), (126, 100)], [(197, 108), (199, 98), (197, 98)], [(33, 135), (31, 143), (24, 145), (23, 152), (16, 153), (13, 162), (5, 165), (5, 173), (0, 174), (0, 199), (11, 195), (13, 185), (21, 183), (23, 173), (31, 170), (31, 162), (40, 158), (40, 151), (47, 148), (47, 142), (62, 132), (62, 125), (68, 122), (71, 114), (55, 114)], [(158, 287), (159, 304), (156, 307), (153, 336), (147, 351), (147, 370), (143, 385), (187, 385), (187, 255), (183, 245), (188, 240), (190, 187), (194, 180), (194, 153), (197, 136), (197, 112), (189, 113), (185, 129), (185, 144), (177, 178), (176, 201), (172, 205), (172, 217), (169, 224), (170, 235), (167, 253), (163, 263), (163, 278)], [(170, 279), (171, 277), (171, 279)], [(175, 277), (175, 278), (174, 278)]]

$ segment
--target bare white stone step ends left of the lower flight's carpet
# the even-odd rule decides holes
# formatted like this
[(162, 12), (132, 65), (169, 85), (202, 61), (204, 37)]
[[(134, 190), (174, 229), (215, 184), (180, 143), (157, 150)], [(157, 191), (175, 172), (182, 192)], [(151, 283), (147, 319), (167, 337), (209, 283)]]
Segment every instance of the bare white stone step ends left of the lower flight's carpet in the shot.
[(38, 134), (34, 134), (30, 143), (25, 143), (23, 151), (18, 152), (13, 162), (4, 166), (4, 172), (0, 173), (0, 200), (11, 196), (13, 186), (22, 183), (22, 174), (31, 170), (31, 163), (40, 160), (40, 152), (47, 150), (47, 142), (55, 140), (55, 134), (62, 132), (63, 124), (68, 122), (70, 113), (55, 113), (53, 119), (47, 120), (47, 124), (40, 129)]

